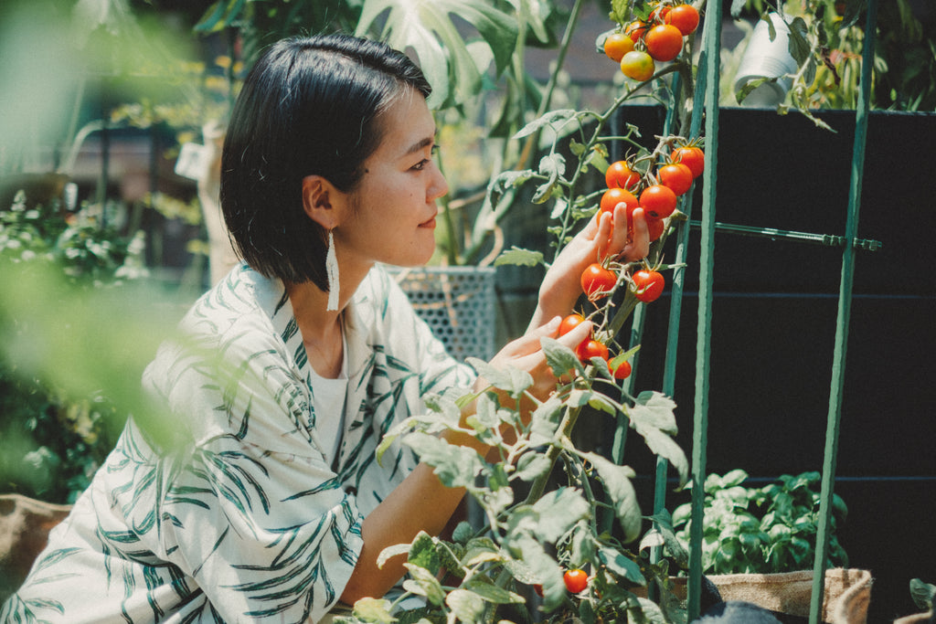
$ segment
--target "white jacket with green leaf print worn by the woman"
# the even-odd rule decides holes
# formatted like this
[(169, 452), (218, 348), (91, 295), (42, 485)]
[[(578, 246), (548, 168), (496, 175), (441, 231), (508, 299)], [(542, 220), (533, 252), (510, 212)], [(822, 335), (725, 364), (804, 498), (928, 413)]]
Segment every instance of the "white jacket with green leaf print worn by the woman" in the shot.
[(364, 515), (417, 464), (399, 442), (378, 464), (381, 436), (422, 410), (426, 393), (474, 377), (380, 268), (344, 324), (344, 433), (328, 457), (332, 441), (317, 439), (315, 421), (336, 416), (314, 413), (283, 284), (232, 270), (183, 319), (194, 342), (164, 344), (144, 374), (170, 408), (168, 428), (187, 442), (157, 452), (128, 421), (0, 621), (325, 617), (358, 558)]

